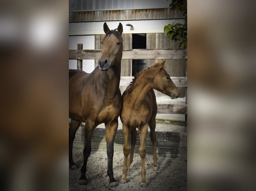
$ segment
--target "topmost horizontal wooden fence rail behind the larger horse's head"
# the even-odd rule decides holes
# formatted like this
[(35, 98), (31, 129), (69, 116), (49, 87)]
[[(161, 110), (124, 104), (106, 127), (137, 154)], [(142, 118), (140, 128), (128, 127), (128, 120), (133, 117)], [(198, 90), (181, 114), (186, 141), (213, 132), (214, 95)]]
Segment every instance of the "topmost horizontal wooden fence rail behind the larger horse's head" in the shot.
[[(76, 50), (77, 51), (77, 50)], [(75, 50), (69, 50), (69, 59), (74, 60)], [(80, 50), (79, 59), (97, 60), (101, 57), (101, 50)], [(124, 49), (123, 60), (130, 59), (186, 59), (186, 49)]]

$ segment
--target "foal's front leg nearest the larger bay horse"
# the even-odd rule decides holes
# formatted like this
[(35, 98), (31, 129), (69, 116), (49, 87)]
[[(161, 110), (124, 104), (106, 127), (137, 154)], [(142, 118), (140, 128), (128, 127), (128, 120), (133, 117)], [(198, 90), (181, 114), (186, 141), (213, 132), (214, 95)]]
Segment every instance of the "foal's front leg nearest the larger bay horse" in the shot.
[(129, 145), (129, 139), (130, 139), (131, 133), (129, 132), (127, 125), (125, 125), (124, 123), (123, 123), (123, 136), (124, 136), (124, 148), (123, 148), (124, 166), (123, 166), (123, 175), (122, 175), (122, 178), (120, 181), (120, 183), (122, 183), (122, 184), (126, 183), (126, 173), (128, 170), (127, 159), (128, 159), (128, 156), (129, 156), (130, 150), (131, 150), (130, 145)]

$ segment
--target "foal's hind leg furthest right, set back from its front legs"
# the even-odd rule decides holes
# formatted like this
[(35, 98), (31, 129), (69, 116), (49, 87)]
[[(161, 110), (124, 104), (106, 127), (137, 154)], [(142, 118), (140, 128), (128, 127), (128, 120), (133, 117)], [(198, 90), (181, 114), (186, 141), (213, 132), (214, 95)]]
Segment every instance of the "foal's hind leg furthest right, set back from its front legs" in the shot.
[(151, 118), (149, 121), (149, 128), (150, 128), (150, 139), (153, 145), (153, 170), (158, 170), (157, 165), (157, 155), (156, 155), (156, 149), (155, 149), (155, 141), (156, 141), (156, 134), (155, 134), (155, 118)]

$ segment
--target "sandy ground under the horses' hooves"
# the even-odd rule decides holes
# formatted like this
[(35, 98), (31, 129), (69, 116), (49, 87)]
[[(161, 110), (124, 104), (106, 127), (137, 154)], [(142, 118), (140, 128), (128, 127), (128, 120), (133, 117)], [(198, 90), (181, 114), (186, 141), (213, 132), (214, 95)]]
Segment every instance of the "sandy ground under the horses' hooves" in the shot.
[[(83, 149), (73, 148), (73, 158), (78, 169), (69, 171), (69, 190), (187, 190), (187, 160), (186, 158), (173, 158), (158, 154), (158, 171), (153, 171), (152, 154), (147, 153), (145, 159), (146, 188), (140, 187), (141, 181), (141, 159), (139, 153), (134, 153), (133, 163), (127, 172), (127, 183), (119, 184), (117, 187), (109, 186), (107, 175), (107, 152), (92, 150), (87, 163), (88, 185), (79, 185), (80, 168), (83, 164)], [(115, 179), (120, 183), (123, 169), (123, 152), (115, 151), (113, 158), (113, 171)]]

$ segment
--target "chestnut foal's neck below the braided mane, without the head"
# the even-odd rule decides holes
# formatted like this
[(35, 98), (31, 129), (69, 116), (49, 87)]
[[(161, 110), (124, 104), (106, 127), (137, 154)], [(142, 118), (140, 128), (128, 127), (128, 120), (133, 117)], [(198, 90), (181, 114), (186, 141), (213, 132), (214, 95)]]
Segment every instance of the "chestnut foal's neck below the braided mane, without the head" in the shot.
[(145, 71), (136, 77), (129, 88), (129, 104), (140, 106), (143, 103), (147, 93), (154, 87), (153, 78), (153, 76), (147, 76)]

